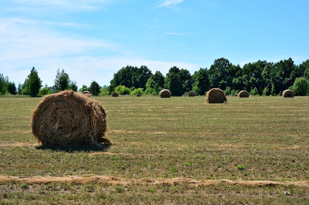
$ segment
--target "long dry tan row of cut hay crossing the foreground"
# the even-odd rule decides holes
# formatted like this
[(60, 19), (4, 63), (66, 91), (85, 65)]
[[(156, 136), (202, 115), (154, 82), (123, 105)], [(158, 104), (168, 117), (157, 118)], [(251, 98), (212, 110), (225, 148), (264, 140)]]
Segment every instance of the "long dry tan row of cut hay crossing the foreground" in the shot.
[(230, 184), (230, 185), (251, 185), (251, 186), (299, 186), (309, 187), (309, 181), (268, 181), (268, 180), (240, 180), (240, 179), (206, 179), (206, 180), (193, 180), (190, 178), (140, 178), (129, 179), (119, 178), (116, 176), (32, 176), (32, 177), (19, 177), (19, 176), (0, 176), (0, 184), (7, 182), (19, 182), (31, 184), (48, 184), (52, 182), (65, 182), (71, 184), (84, 184), (89, 182), (95, 183), (108, 183), (110, 185), (129, 185), (129, 184), (145, 184), (145, 185), (179, 185), (189, 184), (193, 186), (212, 186), (217, 184)]

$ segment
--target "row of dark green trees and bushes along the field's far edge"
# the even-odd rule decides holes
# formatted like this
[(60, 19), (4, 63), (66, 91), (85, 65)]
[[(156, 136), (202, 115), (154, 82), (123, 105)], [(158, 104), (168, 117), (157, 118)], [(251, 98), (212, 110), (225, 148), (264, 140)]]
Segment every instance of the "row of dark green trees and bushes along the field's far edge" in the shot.
[(181, 96), (189, 91), (196, 95), (205, 95), (211, 88), (220, 88), (226, 95), (247, 90), (252, 95), (281, 95), (285, 89), (292, 89), (296, 95), (309, 95), (309, 60), (299, 65), (289, 58), (279, 62), (258, 60), (245, 64), (242, 68), (233, 65), (228, 59), (220, 58), (207, 68), (200, 68), (192, 75), (187, 69), (171, 67), (164, 76), (160, 71), (154, 74), (147, 66), (129, 66), (121, 68), (110, 82), (110, 86), (101, 87), (93, 81), (89, 87), (77, 88), (76, 81), (58, 69), (54, 85), (43, 87), (38, 71), (33, 67), (23, 84), (16, 85), (0, 73), (0, 94), (24, 94), (31, 96), (55, 93), (65, 89), (74, 91), (89, 90), (92, 95), (108, 95), (116, 91), (119, 94), (158, 95), (166, 88), (172, 96)]

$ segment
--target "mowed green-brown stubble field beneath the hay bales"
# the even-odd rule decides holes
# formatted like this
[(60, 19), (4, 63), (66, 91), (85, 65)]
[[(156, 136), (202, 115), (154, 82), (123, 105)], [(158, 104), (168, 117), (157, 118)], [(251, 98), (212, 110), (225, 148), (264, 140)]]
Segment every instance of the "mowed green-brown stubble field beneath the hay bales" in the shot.
[(309, 97), (100, 96), (110, 146), (41, 147), (0, 97), (0, 204), (309, 204)]

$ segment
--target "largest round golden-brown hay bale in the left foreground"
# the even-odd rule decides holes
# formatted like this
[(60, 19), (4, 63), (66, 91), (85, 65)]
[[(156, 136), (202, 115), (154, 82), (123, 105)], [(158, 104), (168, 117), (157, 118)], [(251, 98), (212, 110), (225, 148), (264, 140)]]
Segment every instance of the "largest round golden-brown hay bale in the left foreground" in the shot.
[(101, 146), (108, 143), (106, 113), (73, 90), (47, 95), (32, 113), (32, 133), (42, 146)]

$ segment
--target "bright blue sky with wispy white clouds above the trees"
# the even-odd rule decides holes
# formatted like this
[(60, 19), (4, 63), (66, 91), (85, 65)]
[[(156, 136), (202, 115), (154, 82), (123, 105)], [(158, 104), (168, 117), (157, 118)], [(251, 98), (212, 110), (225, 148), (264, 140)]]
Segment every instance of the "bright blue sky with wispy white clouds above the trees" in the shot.
[(191, 74), (232, 64), (309, 59), (307, 0), (0, 0), (0, 72), (24, 83), (32, 67), (53, 86), (110, 85), (122, 67)]

